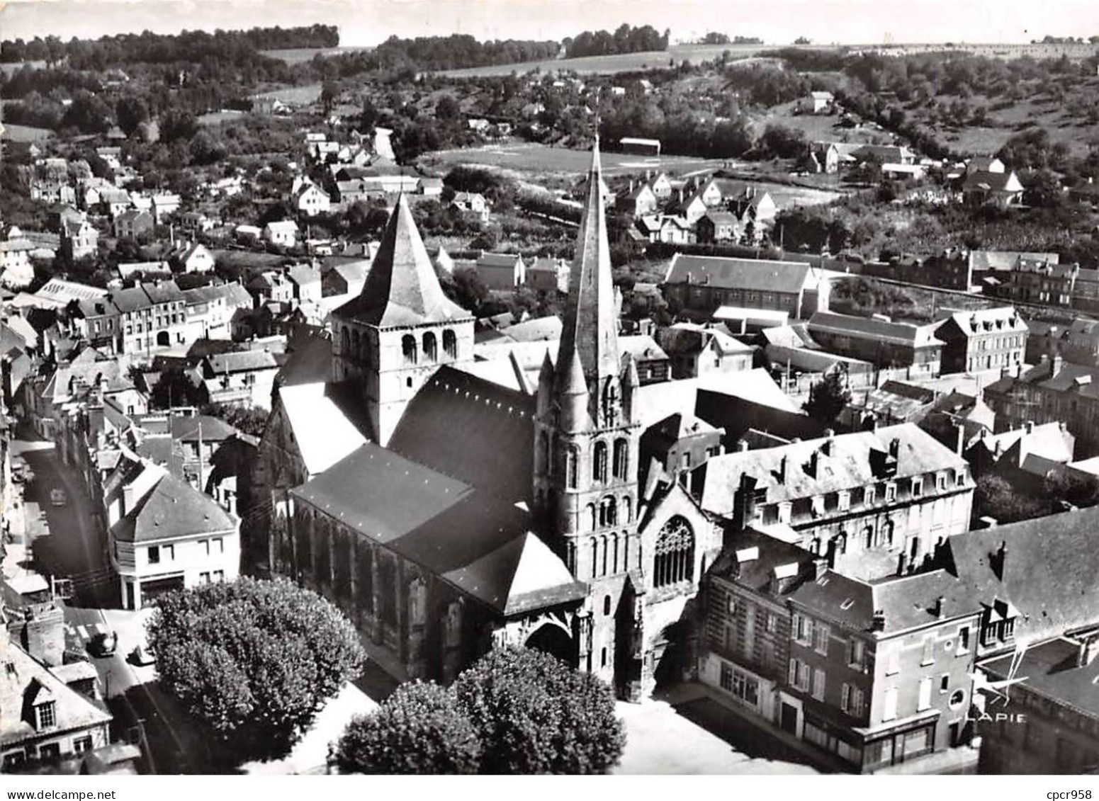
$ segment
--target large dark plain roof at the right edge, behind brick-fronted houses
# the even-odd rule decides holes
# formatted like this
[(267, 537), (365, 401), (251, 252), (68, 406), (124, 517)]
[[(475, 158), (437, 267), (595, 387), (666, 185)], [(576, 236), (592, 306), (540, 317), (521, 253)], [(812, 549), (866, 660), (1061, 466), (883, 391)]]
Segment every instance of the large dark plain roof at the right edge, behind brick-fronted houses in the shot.
[[(985, 603), (1019, 610), (1015, 641), (1034, 643), (1099, 623), (1099, 507), (956, 534), (946, 539), (952, 574)], [(996, 567), (1007, 549), (1002, 578)]]

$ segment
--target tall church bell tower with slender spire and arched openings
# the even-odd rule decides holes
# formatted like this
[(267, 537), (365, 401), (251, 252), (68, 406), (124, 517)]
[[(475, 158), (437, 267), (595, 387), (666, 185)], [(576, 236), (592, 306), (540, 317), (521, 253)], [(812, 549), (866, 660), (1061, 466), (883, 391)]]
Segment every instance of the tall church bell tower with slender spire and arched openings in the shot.
[(556, 363), (546, 354), (534, 423), (534, 504), (546, 539), (590, 588), (589, 665), (608, 681), (625, 659), (615, 634), (626, 574), (639, 570), (637, 369), (622, 356), (596, 140)]

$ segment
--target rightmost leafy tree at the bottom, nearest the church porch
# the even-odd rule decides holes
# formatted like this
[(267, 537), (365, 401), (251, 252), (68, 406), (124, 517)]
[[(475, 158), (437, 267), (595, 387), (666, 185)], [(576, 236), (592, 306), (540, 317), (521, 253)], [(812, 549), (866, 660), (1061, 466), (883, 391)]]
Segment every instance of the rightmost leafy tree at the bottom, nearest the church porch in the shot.
[(498, 648), (454, 691), (480, 734), (482, 774), (604, 774), (622, 756), (610, 688), (548, 654)]

